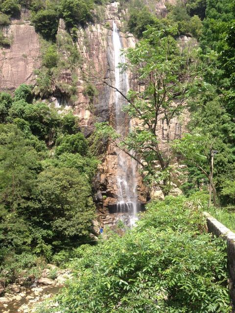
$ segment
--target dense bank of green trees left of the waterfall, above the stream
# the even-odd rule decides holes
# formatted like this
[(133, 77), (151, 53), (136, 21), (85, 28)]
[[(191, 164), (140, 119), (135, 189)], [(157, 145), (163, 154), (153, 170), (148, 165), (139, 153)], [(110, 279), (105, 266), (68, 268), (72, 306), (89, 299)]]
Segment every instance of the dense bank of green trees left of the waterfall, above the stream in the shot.
[[(0, 93), (0, 279), (88, 240), (97, 161), (71, 113), (31, 102), (31, 87)], [(24, 272), (24, 275), (27, 273)]]

